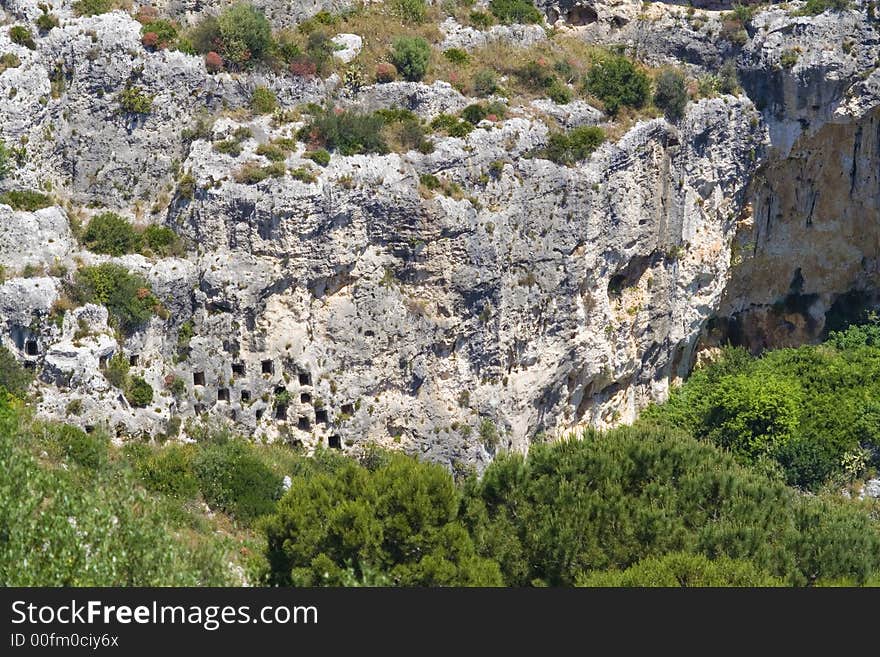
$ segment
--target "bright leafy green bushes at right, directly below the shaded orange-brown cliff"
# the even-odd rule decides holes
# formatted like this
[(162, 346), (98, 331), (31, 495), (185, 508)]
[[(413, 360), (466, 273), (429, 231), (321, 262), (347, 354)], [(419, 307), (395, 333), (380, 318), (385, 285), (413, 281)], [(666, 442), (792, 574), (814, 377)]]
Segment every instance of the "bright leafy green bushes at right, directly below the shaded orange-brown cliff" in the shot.
[(877, 443), (878, 339), (880, 328), (871, 325), (759, 359), (727, 350), (642, 421), (686, 429), (748, 463), (776, 463), (789, 484), (817, 490), (845, 478), (846, 455)]

